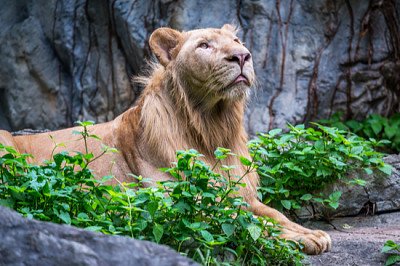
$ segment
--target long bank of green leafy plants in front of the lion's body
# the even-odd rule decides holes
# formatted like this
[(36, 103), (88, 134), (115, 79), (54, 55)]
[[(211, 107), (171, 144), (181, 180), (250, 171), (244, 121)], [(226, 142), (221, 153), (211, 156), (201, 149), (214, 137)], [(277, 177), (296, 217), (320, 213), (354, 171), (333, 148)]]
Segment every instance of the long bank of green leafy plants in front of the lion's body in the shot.
[[(85, 144), (98, 139), (87, 131), (90, 124), (80, 123), (83, 131), (75, 132)], [(112, 175), (95, 179), (88, 166), (99, 157), (87, 149), (55, 154), (40, 166), (11, 147), (0, 145), (2, 151), (7, 153), (0, 157), (0, 204), (26, 217), (166, 244), (202, 264), (299, 265), (305, 259), (296, 243), (279, 239), (275, 221), (244, 209), (248, 205), (237, 195), (242, 177), (230, 175), (234, 166), (222, 165), (234, 156), (227, 149), (216, 151), (214, 168), (220, 165), (228, 178), (214, 173), (197, 151), (180, 151), (176, 166), (164, 169), (177, 181), (147, 188), (151, 180), (134, 175), (137, 182), (115, 187), (106, 183), (116, 178)], [(117, 151), (103, 146), (101, 156), (109, 152)]]

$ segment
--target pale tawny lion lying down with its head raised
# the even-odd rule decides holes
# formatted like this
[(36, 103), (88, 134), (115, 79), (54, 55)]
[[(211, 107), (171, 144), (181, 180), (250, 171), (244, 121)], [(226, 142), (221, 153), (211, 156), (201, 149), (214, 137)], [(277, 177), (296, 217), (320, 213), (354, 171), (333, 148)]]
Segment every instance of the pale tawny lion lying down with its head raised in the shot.
[[(154, 63), (148, 77), (138, 80), (145, 89), (137, 106), (113, 121), (90, 126), (90, 134), (116, 148), (115, 165), (103, 156), (91, 164), (98, 176), (113, 174), (122, 182), (134, 182), (128, 173), (156, 181), (171, 180), (169, 173), (158, 169), (175, 161), (177, 150), (194, 148), (205, 155), (205, 162), (215, 164), (217, 147), (250, 158), (247, 134), (243, 127), (245, 106), (255, 82), (252, 56), (236, 36), (234, 26), (179, 32), (159, 28), (150, 37), (150, 47), (159, 63)], [(74, 129), (51, 132), (57, 143), (65, 143), (57, 151), (84, 152)], [(54, 142), (48, 133), (12, 137), (0, 132), (0, 142), (28, 153), (35, 160), (50, 159)], [(88, 149), (99, 151), (101, 144), (89, 138)], [(96, 154), (95, 154), (96, 156)], [(237, 165), (233, 175), (246, 171), (239, 159), (231, 156), (225, 164)], [(111, 173), (110, 173), (110, 169)], [(307, 254), (321, 254), (331, 247), (329, 235), (291, 222), (279, 211), (264, 205), (257, 197), (259, 176), (249, 173), (239, 193), (258, 216), (268, 216), (284, 227), (280, 237), (302, 239)], [(116, 182), (116, 181), (114, 181)], [(116, 185), (116, 183), (113, 183)]]

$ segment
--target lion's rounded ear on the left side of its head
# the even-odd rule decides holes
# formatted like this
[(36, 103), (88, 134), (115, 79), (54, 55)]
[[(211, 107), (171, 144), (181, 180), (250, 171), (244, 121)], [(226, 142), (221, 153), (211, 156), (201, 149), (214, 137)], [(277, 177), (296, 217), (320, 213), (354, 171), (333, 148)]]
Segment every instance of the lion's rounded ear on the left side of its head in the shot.
[(150, 47), (163, 66), (167, 66), (177, 54), (182, 33), (170, 28), (159, 28), (150, 36)]

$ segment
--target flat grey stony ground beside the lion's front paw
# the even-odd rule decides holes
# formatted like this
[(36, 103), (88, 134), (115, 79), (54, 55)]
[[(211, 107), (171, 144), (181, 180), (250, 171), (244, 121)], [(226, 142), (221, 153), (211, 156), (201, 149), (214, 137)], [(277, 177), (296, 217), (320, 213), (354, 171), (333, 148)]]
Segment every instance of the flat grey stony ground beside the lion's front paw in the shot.
[[(332, 238), (332, 249), (309, 256), (312, 265), (385, 265), (388, 254), (381, 250), (387, 240), (400, 243), (400, 212), (367, 217), (337, 218), (331, 224), (307, 222), (309, 228), (323, 229)], [(400, 265), (397, 263), (395, 265)]]

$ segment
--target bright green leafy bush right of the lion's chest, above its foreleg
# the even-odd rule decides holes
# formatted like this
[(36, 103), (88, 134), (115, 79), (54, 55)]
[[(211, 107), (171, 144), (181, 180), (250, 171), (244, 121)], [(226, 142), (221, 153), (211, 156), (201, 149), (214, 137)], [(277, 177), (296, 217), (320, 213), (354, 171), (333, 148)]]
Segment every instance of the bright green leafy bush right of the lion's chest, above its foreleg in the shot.
[(250, 141), (261, 176), (259, 197), (264, 203), (278, 210), (293, 210), (311, 201), (336, 209), (341, 192), (320, 193), (326, 184), (364, 185), (364, 180), (347, 180), (345, 174), (352, 169), (371, 174), (377, 168), (390, 175), (391, 166), (382, 161), (383, 154), (374, 151), (372, 141), (337, 128), (313, 125), (316, 129), (289, 124), (289, 133), (274, 129)]

